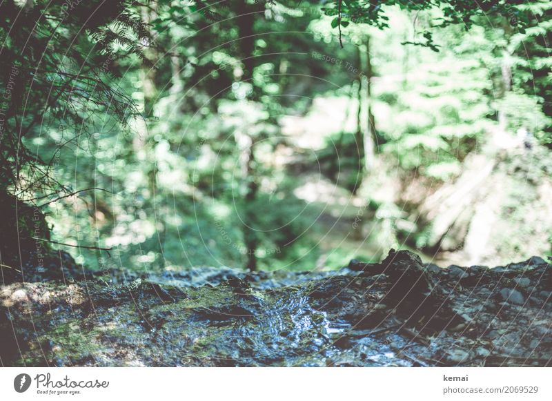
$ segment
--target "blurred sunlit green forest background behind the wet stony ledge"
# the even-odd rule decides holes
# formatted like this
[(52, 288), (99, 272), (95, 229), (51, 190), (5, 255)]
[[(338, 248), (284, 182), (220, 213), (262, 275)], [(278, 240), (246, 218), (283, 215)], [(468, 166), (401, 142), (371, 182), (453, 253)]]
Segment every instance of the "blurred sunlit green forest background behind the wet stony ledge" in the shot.
[(445, 265), (551, 255), (549, 1), (527, 3), (524, 30), (479, 17), (432, 30), (431, 46), (441, 10), (386, 6), (383, 30), (345, 18), (343, 47), (311, 2), (244, 3), (213, 20), (150, 3), (152, 63), (116, 57), (102, 76), (143, 118), (125, 128), (106, 108), (84, 117), (87, 137), (61, 118), (24, 139), (70, 190), (103, 189), (43, 209), (53, 240), (113, 248), (67, 248), (77, 262), (273, 271), (389, 248)]

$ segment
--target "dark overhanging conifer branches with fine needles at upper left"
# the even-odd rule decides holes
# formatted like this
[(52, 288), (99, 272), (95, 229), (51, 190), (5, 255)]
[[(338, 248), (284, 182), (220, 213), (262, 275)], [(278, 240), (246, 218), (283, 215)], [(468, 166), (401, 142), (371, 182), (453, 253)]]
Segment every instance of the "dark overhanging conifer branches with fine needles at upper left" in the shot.
[[(94, 131), (90, 119), (135, 114), (131, 99), (109, 75), (117, 59), (143, 58), (146, 26), (128, 0), (3, 1), (0, 4), (2, 131), (0, 184), (10, 192), (43, 195), (69, 190), (52, 174), (52, 161), (22, 141), (50, 129), (71, 130), (58, 143), (78, 143)], [(93, 125), (93, 124), (92, 124)], [(83, 137), (83, 138), (80, 138)]]

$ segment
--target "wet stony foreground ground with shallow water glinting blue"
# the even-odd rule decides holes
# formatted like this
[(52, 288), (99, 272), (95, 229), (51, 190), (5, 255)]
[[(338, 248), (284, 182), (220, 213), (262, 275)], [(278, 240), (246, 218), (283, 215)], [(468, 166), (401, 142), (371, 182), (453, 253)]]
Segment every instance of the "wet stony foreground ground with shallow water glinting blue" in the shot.
[(3, 366), (552, 366), (552, 266), (197, 268), (0, 286)]

